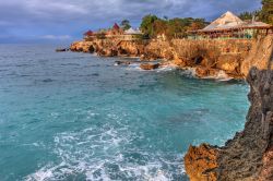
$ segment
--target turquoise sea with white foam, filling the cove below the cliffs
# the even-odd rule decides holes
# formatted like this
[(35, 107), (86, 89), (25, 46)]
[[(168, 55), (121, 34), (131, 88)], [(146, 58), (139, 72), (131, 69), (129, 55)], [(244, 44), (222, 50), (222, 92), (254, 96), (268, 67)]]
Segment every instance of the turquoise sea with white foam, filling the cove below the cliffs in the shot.
[(248, 86), (0, 45), (0, 180), (187, 180), (190, 144), (244, 128)]

